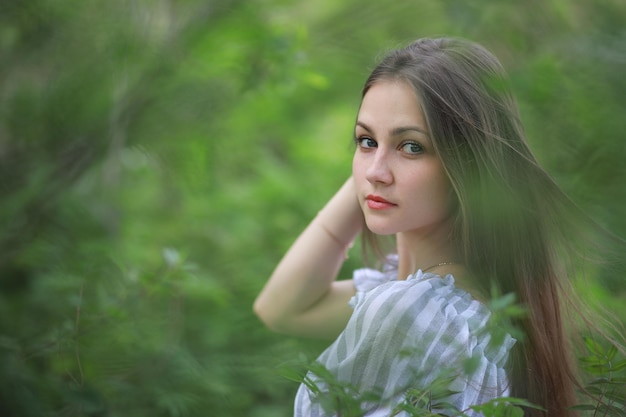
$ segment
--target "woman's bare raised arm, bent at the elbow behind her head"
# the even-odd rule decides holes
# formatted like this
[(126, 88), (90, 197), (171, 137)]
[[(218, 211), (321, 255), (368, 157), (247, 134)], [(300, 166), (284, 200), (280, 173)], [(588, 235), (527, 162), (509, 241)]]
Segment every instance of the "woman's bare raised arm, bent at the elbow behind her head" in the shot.
[(272, 330), (336, 337), (352, 310), (352, 280), (336, 281), (346, 251), (363, 224), (352, 177), (344, 183), (282, 258), (254, 303)]

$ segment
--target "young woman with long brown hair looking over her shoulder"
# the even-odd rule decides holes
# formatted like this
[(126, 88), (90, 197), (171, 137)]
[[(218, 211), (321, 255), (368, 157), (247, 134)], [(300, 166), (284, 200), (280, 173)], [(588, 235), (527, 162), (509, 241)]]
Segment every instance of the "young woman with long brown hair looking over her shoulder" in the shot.
[[(433, 412), (471, 415), (513, 396), (546, 410), (529, 416), (573, 415), (562, 255), (577, 212), (529, 150), (497, 59), (447, 38), (390, 53), (365, 83), (355, 143), (352, 177), (278, 264), (257, 315), (279, 332), (334, 338), (318, 362), (363, 395), (362, 415), (408, 415), (409, 394), (441, 380), (446, 390), (419, 403)], [(382, 271), (336, 280), (361, 231), (395, 235), (393, 253)], [(525, 337), (493, 343), (492, 288), (526, 307)], [(340, 415), (331, 384), (310, 378), (295, 415)]]

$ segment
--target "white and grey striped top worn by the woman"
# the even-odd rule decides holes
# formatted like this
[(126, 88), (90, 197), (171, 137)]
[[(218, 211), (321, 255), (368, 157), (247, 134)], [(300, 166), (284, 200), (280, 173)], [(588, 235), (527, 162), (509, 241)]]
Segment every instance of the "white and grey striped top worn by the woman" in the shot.
[[(442, 401), (472, 416), (479, 414), (470, 405), (508, 395), (504, 365), (515, 340), (506, 335), (497, 346), (489, 343), (489, 310), (456, 288), (452, 275), (419, 270), (403, 281), (387, 266), (383, 272), (356, 270), (354, 284), (352, 317), (317, 359), (329, 374), (309, 372), (296, 394), (294, 417), (354, 415), (350, 407), (367, 417), (409, 416), (406, 409), (393, 413), (410, 402), (450, 413)], [(449, 391), (437, 395), (442, 389), (433, 382), (445, 377), (439, 386)], [(352, 400), (337, 400), (337, 390)], [(430, 403), (416, 401), (419, 395), (407, 401), (416, 392), (427, 393)]]

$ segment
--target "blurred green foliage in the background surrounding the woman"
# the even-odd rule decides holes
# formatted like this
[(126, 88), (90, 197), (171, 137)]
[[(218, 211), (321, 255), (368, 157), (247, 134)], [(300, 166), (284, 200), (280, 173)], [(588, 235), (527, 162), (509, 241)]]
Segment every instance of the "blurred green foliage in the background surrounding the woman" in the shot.
[(325, 343), (252, 301), (349, 175), (376, 57), (440, 34), (502, 59), (542, 163), (626, 236), (622, 0), (3, 2), (0, 415), (288, 416), (276, 367)]

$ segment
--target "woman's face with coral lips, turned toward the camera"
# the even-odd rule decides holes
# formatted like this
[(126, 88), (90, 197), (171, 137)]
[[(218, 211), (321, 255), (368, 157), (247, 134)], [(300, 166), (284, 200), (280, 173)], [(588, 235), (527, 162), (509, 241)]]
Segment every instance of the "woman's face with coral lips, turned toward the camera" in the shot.
[(443, 227), (452, 193), (411, 86), (377, 81), (363, 97), (352, 164), (361, 209), (377, 234)]

